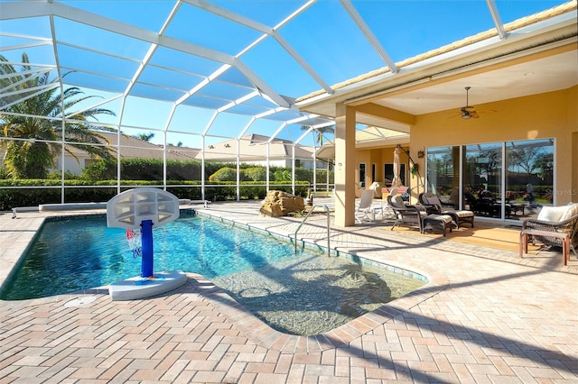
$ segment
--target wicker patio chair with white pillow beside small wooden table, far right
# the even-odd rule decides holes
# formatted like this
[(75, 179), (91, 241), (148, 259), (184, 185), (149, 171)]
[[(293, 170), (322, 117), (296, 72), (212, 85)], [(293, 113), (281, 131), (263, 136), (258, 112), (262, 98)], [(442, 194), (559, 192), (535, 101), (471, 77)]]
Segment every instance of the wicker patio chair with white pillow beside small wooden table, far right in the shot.
[[(547, 233), (553, 233), (553, 235), (549, 236)], [(564, 250), (566, 238), (569, 249)], [(546, 246), (563, 247), (563, 253), (566, 253), (564, 263), (568, 260), (569, 250), (572, 250), (574, 255), (578, 257), (576, 251), (578, 245), (578, 203), (570, 203), (566, 206), (543, 206), (536, 219), (524, 220), (520, 232), (520, 246), (524, 243), (527, 244), (528, 240), (533, 244), (537, 242)]]

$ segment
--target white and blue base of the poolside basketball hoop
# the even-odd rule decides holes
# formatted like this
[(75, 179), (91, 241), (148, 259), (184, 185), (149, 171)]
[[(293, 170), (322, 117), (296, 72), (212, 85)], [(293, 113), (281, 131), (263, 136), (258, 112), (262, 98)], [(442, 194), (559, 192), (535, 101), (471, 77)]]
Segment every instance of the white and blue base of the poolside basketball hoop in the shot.
[(186, 284), (187, 275), (179, 270), (156, 272), (154, 278), (140, 276), (111, 284), (108, 293), (113, 301), (135, 300), (169, 292)]

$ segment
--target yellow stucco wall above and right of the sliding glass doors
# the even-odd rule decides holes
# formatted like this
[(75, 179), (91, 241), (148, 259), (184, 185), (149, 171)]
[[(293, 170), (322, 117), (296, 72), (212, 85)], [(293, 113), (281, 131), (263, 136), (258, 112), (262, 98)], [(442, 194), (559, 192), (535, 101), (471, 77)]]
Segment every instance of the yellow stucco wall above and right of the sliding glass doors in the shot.
[(463, 120), (459, 111), (419, 115), (411, 128), (411, 155), (428, 147), (527, 139), (555, 139), (556, 205), (578, 202), (578, 87), (496, 103), (475, 105), (479, 119)]

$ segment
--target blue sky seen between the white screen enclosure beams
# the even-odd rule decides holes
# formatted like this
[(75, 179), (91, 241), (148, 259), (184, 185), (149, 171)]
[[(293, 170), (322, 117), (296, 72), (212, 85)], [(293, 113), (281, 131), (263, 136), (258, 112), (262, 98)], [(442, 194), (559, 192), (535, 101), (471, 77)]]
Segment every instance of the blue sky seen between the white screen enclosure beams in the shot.
[[(2, 3), (6, 2), (0, 1), (0, 5)], [(170, 0), (77, 0), (61, 3), (155, 33), (161, 31), (166, 17), (175, 5), (175, 2)], [(503, 23), (563, 3), (496, 0)], [(218, 5), (231, 13), (240, 14), (272, 28), (304, 2), (227, 0), (209, 4)], [(352, 4), (395, 62), (485, 32), (494, 26), (485, 0), (353, 0)], [(79, 69), (67, 77), (70, 84), (81, 85), (88, 95), (98, 95), (105, 99), (112, 99), (126, 89), (128, 80), (150, 47), (148, 42), (98, 30), (60, 17), (54, 18), (54, 27), (56, 39), (60, 42), (57, 51), (61, 66), (65, 70)], [(32, 41), (38, 44), (42, 39), (50, 39), (51, 24), (48, 17), (7, 20), (0, 22), (0, 32), (3, 32), (3, 35), (0, 35), (0, 53), (8, 59), (18, 60), (22, 49), (12, 50), (10, 47)], [(290, 23), (281, 26), (277, 32), (307, 62), (312, 71), (330, 86), (386, 66), (337, 0), (314, 3)], [(164, 35), (170, 38), (197, 44), (231, 57), (238, 55), (261, 34), (191, 5), (181, 5), (179, 12), (164, 31)], [(28, 52), (31, 62), (49, 65), (56, 62), (54, 49), (46, 42), (41, 46), (27, 46), (25, 51)], [(255, 48), (238, 56), (238, 59), (278, 94), (298, 97), (321, 89), (322, 85), (298, 65), (279, 42), (268, 37)], [(203, 77), (218, 69), (220, 64), (214, 60), (163, 48), (157, 50), (151, 63), (154, 66), (144, 70), (139, 78), (140, 83), (133, 90), (136, 95), (153, 96), (155, 100), (130, 98), (126, 103), (126, 114), (122, 122), (130, 127), (124, 127), (123, 130), (139, 130), (132, 128), (133, 126), (144, 130), (163, 130), (168, 123), (174, 131), (202, 132), (210, 122), (210, 109), (179, 106), (170, 123), (168, 116), (173, 101), (200, 83)], [(227, 94), (231, 99), (235, 99), (248, 92), (244, 87), (227, 85), (230, 81), (240, 86), (250, 85), (248, 79), (236, 69), (229, 69), (222, 80), (203, 88), (200, 95), (207, 97), (200, 100), (209, 102), (208, 105), (219, 105), (219, 95)], [(259, 111), (268, 102), (256, 98), (252, 103), (246, 110)], [(119, 112), (121, 104), (119, 100), (114, 100), (102, 107)], [(217, 136), (236, 136), (249, 119), (250, 116), (247, 115), (219, 114), (210, 133)], [(117, 123), (115, 120), (104, 122)], [(299, 124), (294, 125), (285, 129), (280, 137), (297, 139), (303, 132)], [(279, 126), (280, 122), (258, 122), (251, 127), (249, 133), (271, 134)], [(159, 142), (161, 136), (160, 133), (155, 133), (154, 141)], [(170, 141), (173, 143), (181, 141), (178, 140), (178, 135), (172, 137), (174, 140)], [(183, 143), (190, 146), (200, 145), (199, 140), (189, 139)], [(219, 138), (218, 141), (220, 140), (222, 139)]]

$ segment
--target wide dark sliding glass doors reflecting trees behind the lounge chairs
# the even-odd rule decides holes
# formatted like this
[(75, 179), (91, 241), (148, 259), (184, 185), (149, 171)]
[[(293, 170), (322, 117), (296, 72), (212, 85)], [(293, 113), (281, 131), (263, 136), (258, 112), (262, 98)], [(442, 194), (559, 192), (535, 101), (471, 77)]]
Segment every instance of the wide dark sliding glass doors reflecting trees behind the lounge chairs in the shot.
[(476, 215), (536, 216), (554, 203), (554, 140), (428, 148), (426, 178), (428, 191)]

